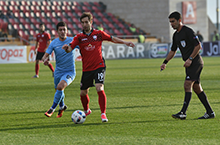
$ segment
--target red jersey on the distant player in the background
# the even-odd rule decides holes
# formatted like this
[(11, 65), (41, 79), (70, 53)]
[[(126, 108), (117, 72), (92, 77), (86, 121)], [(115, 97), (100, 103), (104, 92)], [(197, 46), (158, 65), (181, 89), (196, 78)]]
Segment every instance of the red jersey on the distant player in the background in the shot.
[(50, 40), (50, 34), (47, 32), (38, 33), (36, 41), (39, 43), (38, 50), (39, 52), (45, 52), (47, 48), (47, 41)]

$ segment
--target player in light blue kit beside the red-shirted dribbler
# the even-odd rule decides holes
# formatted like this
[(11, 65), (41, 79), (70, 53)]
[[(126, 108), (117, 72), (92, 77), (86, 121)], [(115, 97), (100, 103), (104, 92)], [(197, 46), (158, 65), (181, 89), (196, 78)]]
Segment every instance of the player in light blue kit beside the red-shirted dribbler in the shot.
[(67, 25), (65, 22), (59, 22), (57, 24), (57, 33), (59, 38), (54, 39), (49, 45), (42, 60), (45, 65), (49, 63), (49, 55), (54, 51), (56, 57), (56, 68), (54, 72), (54, 87), (56, 93), (54, 95), (53, 105), (45, 113), (47, 117), (51, 117), (56, 107), (59, 105), (60, 109), (57, 118), (62, 117), (63, 112), (67, 109), (64, 104), (64, 89), (70, 85), (76, 76), (75, 70), (75, 50), (71, 53), (66, 53), (62, 49), (64, 44), (69, 44), (73, 38), (67, 37)]

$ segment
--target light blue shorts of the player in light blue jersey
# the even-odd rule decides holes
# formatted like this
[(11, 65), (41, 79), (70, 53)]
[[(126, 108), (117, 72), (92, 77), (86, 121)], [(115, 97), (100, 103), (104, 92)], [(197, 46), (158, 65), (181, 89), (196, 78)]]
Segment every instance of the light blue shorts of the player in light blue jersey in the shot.
[(54, 72), (54, 88), (57, 88), (57, 85), (60, 81), (64, 80), (69, 86), (76, 77), (75, 71), (65, 71), (65, 72)]

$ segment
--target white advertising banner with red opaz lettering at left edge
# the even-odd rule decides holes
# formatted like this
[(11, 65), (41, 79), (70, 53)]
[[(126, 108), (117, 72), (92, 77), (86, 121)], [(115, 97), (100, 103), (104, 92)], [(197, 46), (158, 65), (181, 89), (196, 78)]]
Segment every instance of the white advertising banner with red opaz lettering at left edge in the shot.
[(0, 63), (27, 63), (26, 46), (0, 46)]

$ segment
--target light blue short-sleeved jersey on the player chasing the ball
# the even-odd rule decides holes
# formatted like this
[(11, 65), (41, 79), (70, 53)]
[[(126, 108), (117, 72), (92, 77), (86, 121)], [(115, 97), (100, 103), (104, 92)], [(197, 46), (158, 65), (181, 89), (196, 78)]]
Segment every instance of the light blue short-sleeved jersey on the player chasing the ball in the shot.
[(52, 51), (56, 57), (56, 69), (55, 72), (75, 71), (75, 50), (70, 53), (66, 53), (62, 49), (64, 44), (69, 44), (73, 40), (73, 37), (66, 37), (66, 40), (60, 41), (59, 38), (54, 39), (46, 50), (46, 53), (51, 54)]

